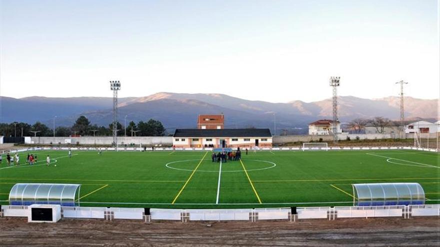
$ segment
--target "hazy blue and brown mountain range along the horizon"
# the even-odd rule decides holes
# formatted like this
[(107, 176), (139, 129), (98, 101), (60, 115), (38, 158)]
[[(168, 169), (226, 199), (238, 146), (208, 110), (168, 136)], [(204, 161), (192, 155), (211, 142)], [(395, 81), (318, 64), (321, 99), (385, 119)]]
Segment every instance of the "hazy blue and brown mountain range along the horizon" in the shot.
[[(437, 99), (405, 97), (406, 119), (436, 119)], [(354, 118), (382, 116), (399, 118), (399, 97), (363, 99), (353, 96), (338, 97), (338, 116), (341, 122)], [(331, 118), (331, 99), (315, 102), (299, 100), (270, 103), (264, 100), (245, 100), (225, 94), (185, 94), (161, 92), (145, 97), (118, 99), (119, 122), (146, 121), (150, 118), (163, 123), (168, 132), (175, 128), (194, 128), (198, 114), (225, 115), (226, 128), (270, 128), (276, 119), (277, 133), (305, 133), (307, 124), (322, 118)], [(275, 114), (273, 114), (275, 113)], [(108, 126), (112, 121), (112, 98), (72, 97), (47, 98), (0, 97), (0, 122), (40, 121), (49, 127), (56, 116), (56, 126), (71, 126), (75, 119), (86, 116), (92, 124)]]

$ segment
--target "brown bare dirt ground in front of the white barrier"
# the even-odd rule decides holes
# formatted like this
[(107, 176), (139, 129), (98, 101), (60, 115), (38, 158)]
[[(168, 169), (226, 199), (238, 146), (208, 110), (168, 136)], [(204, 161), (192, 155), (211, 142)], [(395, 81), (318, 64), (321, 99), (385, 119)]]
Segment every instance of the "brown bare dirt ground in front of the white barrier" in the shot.
[(55, 224), (0, 218), (0, 246), (440, 246), (440, 218)]

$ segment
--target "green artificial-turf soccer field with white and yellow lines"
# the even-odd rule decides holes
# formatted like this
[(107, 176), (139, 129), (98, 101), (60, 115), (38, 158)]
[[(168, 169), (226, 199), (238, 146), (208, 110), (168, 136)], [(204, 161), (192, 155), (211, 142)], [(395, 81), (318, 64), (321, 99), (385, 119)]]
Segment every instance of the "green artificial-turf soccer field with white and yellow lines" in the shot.
[[(211, 152), (38, 151), (0, 167), (0, 204), (15, 183), (81, 184), (81, 206), (255, 208), (352, 205), (352, 183), (420, 183), (440, 201), (440, 155), (415, 150), (258, 151), (213, 163)], [(45, 166), (50, 155), (51, 165)], [(56, 164), (56, 167), (54, 166)]]

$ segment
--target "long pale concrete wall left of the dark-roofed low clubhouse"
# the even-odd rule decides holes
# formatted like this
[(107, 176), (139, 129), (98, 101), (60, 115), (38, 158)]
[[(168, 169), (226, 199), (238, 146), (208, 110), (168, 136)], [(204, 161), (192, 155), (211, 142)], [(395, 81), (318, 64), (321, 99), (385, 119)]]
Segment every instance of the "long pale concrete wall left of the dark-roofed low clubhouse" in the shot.
[[(32, 137), (31, 143), (34, 144), (65, 144), (65, 140), (70, 140), (71, 144), (76, 144), (79, 142), (81, 145), (87, 144), (97, 144), (97, 145), (110, 145), (113, 142), (113, 137), (111, 136), (81, 136), (81, 137)], [(170, 136), (139, 136), (139, 137), (117, 137), (117, 142), (119, 144), (142, 144), (142, 145), (172, 145), (172, 137)]]

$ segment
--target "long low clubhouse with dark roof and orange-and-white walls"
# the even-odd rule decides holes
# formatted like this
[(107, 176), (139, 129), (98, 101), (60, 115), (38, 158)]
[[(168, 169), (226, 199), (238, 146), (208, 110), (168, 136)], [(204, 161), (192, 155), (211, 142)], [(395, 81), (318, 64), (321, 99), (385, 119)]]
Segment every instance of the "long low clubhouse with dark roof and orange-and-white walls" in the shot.
[(175, 148), (252, 148), (272, 147), (269, 129), (176, 129)]

